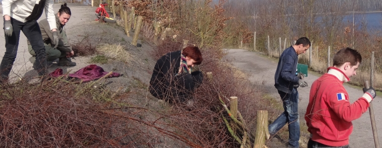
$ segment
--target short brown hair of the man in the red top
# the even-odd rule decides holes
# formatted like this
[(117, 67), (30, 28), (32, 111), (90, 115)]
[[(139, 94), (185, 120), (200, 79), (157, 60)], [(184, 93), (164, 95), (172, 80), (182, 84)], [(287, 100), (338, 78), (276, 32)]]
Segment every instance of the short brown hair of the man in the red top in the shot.
[(361, 54), (352, 48), (342, 48), (333, 57), (333, 66), (341, 66), (346, 62), (350, 62), (350, 66), (357, 65), (357, 62), (361, 64)]

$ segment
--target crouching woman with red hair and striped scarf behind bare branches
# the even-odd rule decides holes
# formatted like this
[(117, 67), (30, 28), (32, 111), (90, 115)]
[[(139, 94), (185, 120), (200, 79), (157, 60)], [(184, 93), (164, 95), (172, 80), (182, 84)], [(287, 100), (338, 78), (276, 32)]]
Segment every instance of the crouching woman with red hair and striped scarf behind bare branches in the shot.
[(200, 71), (192, 72), (194, 65), (203, 61), (198, 47), (188, 46), (162, 56), (155, 64), (150, 79), (150, 93), (168, 101), (185, 102), (203, 80)]

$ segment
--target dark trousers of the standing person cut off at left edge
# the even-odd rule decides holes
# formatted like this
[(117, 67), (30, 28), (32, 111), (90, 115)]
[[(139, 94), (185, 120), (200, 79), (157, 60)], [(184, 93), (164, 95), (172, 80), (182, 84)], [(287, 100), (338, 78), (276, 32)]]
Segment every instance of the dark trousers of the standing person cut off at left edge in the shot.
[(22, 31), (25, 37), (28, 38), (34, 52), (36, 53), (36, 62), (33, 67), (38, 71), (39, 75), (44, 75), (47, 68), (47, 59), (39, 24), (36, 20), (30, 20), (23, 23), (10, 18), (10, 21), (12, 23), (13, 33), (10, 37), (4, 35), (6, 50), (0, 64), (0, 82), (6, 81), (9, 77), (13, 62), (16, 59), (20, 31)]

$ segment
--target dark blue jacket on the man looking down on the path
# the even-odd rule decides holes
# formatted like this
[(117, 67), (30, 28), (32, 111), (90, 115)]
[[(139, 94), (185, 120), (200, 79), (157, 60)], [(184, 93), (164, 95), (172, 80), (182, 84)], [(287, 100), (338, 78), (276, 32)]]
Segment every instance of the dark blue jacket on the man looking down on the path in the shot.
[(297, 62), (298, 55), (290, 46), (282, 52), (279, 58), (276, 74), (274, 74), (274, 86), (277, 90), (290, 94), (294, 84), (298, 84), (299, 77), (297, 77)]

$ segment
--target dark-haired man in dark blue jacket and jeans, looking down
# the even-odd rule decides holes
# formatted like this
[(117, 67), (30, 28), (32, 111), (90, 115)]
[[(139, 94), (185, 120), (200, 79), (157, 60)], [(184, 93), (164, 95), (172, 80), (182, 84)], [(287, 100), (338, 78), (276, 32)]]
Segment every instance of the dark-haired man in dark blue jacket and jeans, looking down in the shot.
[(297, 74), (297, 62), (298, 55), (305, 53), (310, 46), (311, 41), (307, 37), (297, 39), (296, 44), (286, 48), (281, 54), (274, 75), (274, 86), (283, 101), (284, 112), (269, 125), (268, 130), (271, 135), (274, 135), (288, 123), (288, 148), (299, 148), (300, 120), (297, 87), (306, 87), (308, 83), (303, 79), (303, 74)]

